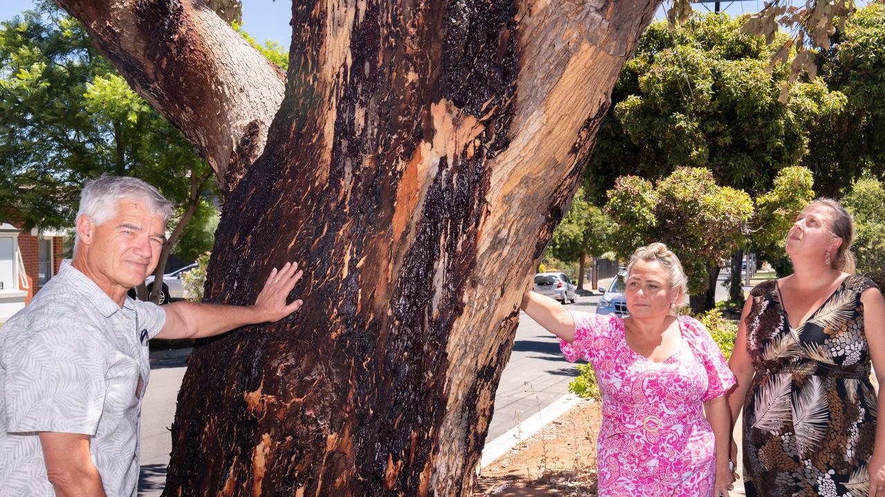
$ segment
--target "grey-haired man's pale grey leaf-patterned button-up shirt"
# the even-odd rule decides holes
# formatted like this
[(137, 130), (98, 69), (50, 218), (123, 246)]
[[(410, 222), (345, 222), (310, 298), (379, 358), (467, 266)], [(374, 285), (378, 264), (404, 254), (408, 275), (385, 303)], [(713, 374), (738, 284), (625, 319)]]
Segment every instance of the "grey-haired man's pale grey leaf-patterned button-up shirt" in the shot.
[(148, 340), (165, 311), (127, 297), (119, 308), (65, 261), (0, 327), (0, 494), (54, 496), (36, 432), (91, 436), (109, 496), (135, 495)]

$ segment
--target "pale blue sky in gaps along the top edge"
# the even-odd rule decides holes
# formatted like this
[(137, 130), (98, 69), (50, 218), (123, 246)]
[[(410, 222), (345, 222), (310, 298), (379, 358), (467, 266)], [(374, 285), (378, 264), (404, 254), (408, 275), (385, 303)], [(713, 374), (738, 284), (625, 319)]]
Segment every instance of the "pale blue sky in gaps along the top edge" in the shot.
[[(866, 5), (867, 0), (858, 0), (858, 7)], [(670, 4), (665, 1), (658, 9), (656, 19), (666, 19), (666, 7)], [(721, 2), (722, 11), (732, 15), (741, 15), (747, 12), (759, 11), (764, 5), (762, 0), (735, 0)], [(32, 8), (32, 0), (0, 0), (0, 20), (9, 20), (21, 11)], [(696, 4), (696, 11), (713, 10), (713, 4)], [(291, 14), (290, 0), (242, 0), (242, 23), (258, 42), (271, 40), (280, 43), (283, 47), (289, 47), (291, 39), (291, 27), (289, 19)]]

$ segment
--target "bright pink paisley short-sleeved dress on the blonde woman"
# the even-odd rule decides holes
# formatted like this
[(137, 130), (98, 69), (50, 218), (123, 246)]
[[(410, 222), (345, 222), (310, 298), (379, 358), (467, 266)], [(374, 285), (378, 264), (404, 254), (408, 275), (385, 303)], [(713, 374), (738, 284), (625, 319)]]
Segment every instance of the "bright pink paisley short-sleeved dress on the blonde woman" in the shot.
[(593, 364), (603, 394), (598, 450), (600, 497), (709, 497), (716, 478), (715, 437), (704, 401), (735, 385), (704, 325), (678, 317), (679, 350), (652, 363), (627, 346), (614, 314), (573, 312), (566, 359)]

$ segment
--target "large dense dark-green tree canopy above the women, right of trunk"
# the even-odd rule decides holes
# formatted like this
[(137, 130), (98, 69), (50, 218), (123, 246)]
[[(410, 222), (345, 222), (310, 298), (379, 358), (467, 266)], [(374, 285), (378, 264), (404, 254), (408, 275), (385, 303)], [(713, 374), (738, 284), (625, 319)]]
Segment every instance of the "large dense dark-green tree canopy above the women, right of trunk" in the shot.
[(659, 178), (680, 166), (755, 195), (800, 163), (812, 124), (842, 111), (845, 96), (819, 79), (790, 86), (781, 103), (789, 66), (770, 67), (775, 48), (742, 30), (747, 19), (698, 15), (646, 30), (589, 160), (591, 198), (603, 202), (619, 176)]

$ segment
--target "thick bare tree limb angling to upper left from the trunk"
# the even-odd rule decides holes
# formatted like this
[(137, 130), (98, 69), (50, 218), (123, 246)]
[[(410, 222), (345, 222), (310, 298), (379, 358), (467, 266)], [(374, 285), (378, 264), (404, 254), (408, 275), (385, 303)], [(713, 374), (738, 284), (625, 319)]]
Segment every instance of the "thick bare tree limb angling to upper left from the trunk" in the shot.
[(196, 145), (230, 191), (264, 150), (283, 97), (280, 67), (201, 0), (57, 3), (81, 20), (96, 48)]

